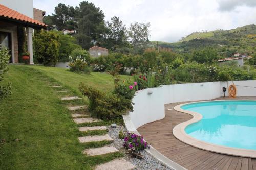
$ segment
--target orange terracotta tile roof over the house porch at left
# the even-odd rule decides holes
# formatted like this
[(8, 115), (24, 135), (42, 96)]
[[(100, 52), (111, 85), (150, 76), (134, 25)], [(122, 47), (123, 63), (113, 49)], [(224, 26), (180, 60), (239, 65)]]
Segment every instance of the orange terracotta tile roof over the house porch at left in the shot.
[(22, 13), (19, 13), (19, 12), (15, 11), (11, 8), (8, 8), (2, 4), (0, 4), (0, 16), (18, 20), (18, 21), (27, 22), (27, 23), (32, 23), (32, 24), (42, 26), (42, 27), (47, 27), (47, 25), (45, 25), (44, 23), (42, 23), (38, 20), (32, 19), (26, 15), (23, 15)]

